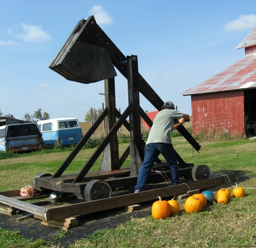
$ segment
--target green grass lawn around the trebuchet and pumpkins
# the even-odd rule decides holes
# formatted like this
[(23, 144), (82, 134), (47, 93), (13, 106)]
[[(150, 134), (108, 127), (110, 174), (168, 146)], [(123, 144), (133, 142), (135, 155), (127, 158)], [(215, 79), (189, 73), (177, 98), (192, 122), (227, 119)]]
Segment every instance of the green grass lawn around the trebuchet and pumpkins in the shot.
[[(248, 139), (225, 142), (202, 142), (198, 153), (182, 137), (173, 138), (174, 148), (187, 163), (205, 164), (214, 174), (236, 173), (236, 183), (245, 188), (244, 198), (231, 198), (228, 204), (207, 206), (200, 213), (187, 214), (184, 200), (181, 213), (166, 219), (152, 216), (131, 218), (114, 229), (96, 231), (87, 239), (77, 240), (70, 248), (253, 248), (256, 247), (256, 141)], [(127, 143), (120, 145), (125, 150)], [(69, 173), (77, 173), (95, 149), (84, 149), (74, 159)], [(0, 190), (30, 184), (39, 172), (54, 173), (70, 151), (36, 153), (0, 160)], [(122, 155), (122, 152), (120, 152)], [(100, 161), (97, 161), (97, 170)], [(129, 162), (128, 162), (129, 164)], [(235, 182), (225, 183), (231, 191)], [(214, 192), (219, 187), (214, 188)], [(61, 232), (52, 243), (24, 240), (17, 231), (0, 228), (0, 244), (7, 248), (51, 247), (66, 233)], [(27, 242), (27, 243), (26, 243)], [(37, 243), (38, 242), (38, 243)]]

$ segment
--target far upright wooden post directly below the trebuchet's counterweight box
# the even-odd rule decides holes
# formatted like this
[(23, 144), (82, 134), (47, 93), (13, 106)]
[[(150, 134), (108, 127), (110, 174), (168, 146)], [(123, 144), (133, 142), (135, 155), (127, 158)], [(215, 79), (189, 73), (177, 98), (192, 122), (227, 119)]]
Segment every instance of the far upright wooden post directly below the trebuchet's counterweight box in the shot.
[[(107, 116), (107, 133), (113, 128), (116, 123), (115, 117), (115, 81), (112, 79), (105, 79), (105, 104), (108, 108)], [(109, 144), (103, 152), (100, 170), (109, 171), (119, 169), (119, 148), (117, 134), (113, 136)]]

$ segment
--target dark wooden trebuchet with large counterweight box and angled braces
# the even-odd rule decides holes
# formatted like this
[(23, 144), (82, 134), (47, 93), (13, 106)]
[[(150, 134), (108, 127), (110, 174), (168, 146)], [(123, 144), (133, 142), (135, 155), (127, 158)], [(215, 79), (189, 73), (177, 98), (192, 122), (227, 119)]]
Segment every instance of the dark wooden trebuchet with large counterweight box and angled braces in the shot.
[[(89, 84), (104, 80), (106, 108), (72, 150), (70, 155), (63, 161), (54, 175), (41, 174), (40, 176), (36, 176), (33, 186), (37, 190), (58, 190), (74, 193), (78, 198), (84, 198), (84, 189), (88, 180), (105, 179), (107, 178), (106, 174), (108, 177), (110, 175), (115, 177), (115, 180), (111, 180), (110, 187), (118, 188), (135, 185), (136, 176), (143, 161), (145, 147), (145, 142), (141, 134), (141, 118), (150, 127), (152, 126), (152, 120), (140, 107), (139, 94), (141, 93), (158, 110), (161, 110), (164, 104), (164, 101), (160, 99), (157, 93), (140, 75), (137, 56), (131, 55), (125, 57), (113, 41), (98, 26), (94, 17), (90, 16), (88, 20), (79, 21), (49, 67), (64, 78), (75, 82)], [(117, 75), (115, 69), (121, 72), (128, 83), (129, 102), (123, 114), (116, 109), (115, 104), (114, 77)], [(77, 174), (64, 175), (65, 170), (71, 164), (72, 160), (105, 118), (108, 123), (108, 132), (92, 157)], [(129, 122), (126, 120), (127, 118), (129, 118)], [(124, 126), (130, 131), (130, 144), (123, 155), (120, 156), (117, 132), (121, 126)], [(195, 150), (200, 150), (200, 144), (196, 142), (183, 125), (177, 130)], [(95, 175), (95, 178), (92, 178), (89, 170), (102, 152), (103, 157), (100, 171), (98, 176)], [(130, 169), (123, 175), (124, 171), (121, 167), (129, 155)], [(177, 152), (176, 157), (180, 166), (180, 176), (191, 178), (191, 171), (194, 165), (184, 162)], [(161, 162), (160, 159), (156, 161), (156, 165), (160, 165), (166, 170), (166, 163)], [(166, 172), (168, 175), (168, 170)], [(153, 182), (154, 180), (159, 180), (159, 175), (151, 175), (150, 180)], [(106, 179), (106, 181), (108, 180)]]

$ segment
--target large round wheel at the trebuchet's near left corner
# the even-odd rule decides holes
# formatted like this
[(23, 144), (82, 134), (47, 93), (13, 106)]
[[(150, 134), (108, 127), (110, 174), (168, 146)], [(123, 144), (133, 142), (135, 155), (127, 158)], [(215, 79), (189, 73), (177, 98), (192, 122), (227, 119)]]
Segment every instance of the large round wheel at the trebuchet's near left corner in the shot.
[(99, 200), (111, 197), (112, 189), (103, 180), (93, 179), (84, 188), (84, 199), (86, 201)]

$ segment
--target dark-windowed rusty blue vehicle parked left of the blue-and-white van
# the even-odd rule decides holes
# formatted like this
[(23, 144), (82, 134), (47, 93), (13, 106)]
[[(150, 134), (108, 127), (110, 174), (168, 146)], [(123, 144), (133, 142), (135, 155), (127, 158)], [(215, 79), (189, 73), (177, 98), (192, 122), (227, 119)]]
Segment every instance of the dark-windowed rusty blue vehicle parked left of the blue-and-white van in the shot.
[(36, 122), (8, 123), (0, 126), (0, 151), (41, 150), (42, 134)]

